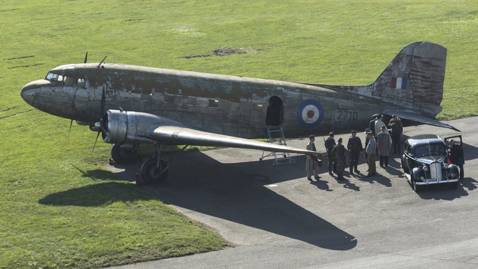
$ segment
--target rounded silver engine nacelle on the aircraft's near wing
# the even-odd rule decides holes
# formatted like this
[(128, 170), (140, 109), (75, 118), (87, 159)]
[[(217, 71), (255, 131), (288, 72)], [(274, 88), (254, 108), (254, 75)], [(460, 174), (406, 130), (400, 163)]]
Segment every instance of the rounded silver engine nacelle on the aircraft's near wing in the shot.
[(111, 144), (140, 144), (158, 142), (149, 137), (160, 125), (183, 126), (181, 123), (148, 113), (108, 110), (103, 116), (103, 141)]

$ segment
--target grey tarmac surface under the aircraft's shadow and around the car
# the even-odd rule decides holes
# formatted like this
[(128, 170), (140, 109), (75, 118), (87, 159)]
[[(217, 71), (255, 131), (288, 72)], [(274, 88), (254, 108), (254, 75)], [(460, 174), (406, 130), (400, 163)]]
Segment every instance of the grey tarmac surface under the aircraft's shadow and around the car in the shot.
[[(478, 268), (478, 117), (447, 121), (461, 133), (428, 125), (405, 127), (412, 135), (462, 135), (465, 178), (458, 189), (425, 187), (415, 193), (399, 155), (365, 177), (337, 181), (321, 168), (306, 179), (305, 156), (272, 166), (260, 151), (218, 149), (180, 154), (161, 185), (145, 185), (158, 199), (204, 223), (235, 247), (117, 269), (152, 268)], [(347, 145), (349, 134), (335, 135)], [(363, 133), (358, 134), (365, 141)], [(288, 140), (305, 148), (308, 139)], [(323, 138), (316, 137), (325, 152)], [(141, 163), (109, 167), (134, 180)]]

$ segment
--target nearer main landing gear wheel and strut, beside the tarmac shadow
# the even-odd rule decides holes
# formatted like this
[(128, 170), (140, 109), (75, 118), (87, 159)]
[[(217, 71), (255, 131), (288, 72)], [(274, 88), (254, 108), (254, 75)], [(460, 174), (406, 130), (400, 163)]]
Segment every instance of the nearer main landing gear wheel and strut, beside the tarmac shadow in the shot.
[(167, 162), (161, 160), (161, 144), (154, 144), (154, 155), (151, 159), (146, 160), (141, 166), (141, 178), (148, 184), (159, 184), (166, 180), (169, 172), (169, 166), (176, 158), (177, 154), (186, 149), (188, 145), (184, 146), (181, 151), (174, 154), (174, 156)]

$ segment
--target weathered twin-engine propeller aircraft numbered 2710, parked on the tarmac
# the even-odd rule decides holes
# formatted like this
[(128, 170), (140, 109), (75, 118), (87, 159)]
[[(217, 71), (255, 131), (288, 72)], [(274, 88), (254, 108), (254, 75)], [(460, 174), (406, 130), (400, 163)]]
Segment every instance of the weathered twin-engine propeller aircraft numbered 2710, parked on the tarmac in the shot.
[(455, 129), (434, 119), (442, 110), (446, 51), (430, 42), (411, 43), (366, 86), (104, 63), (106, 57), (86, 63), (85, 57), (85, 63), (56, 67), (26, 84), (21, 96), (43, 112), (101, 132), (114, 144), (111, 156), (118, 163), (135, 160), (140, 143), (154, 144), (154, 157), (141, 168), (142, 178), (153, 183), (166, 178), (170, 165), (160, 159), (162, 145), (319, 155), (250, 138), (266, 137), (267, 128), (279, 126), (287, 137), (362, 130), (375, 113)]

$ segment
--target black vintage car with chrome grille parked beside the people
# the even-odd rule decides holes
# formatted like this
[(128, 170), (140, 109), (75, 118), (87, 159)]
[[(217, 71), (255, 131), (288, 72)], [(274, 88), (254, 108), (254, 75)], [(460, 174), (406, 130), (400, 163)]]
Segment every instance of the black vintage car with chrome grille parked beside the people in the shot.
[(430, 184), (447, 183), (454, 189), (458, 187), (458, 168), (448, 164), (445, 141), (438, 135), (408, 138), (403, 148), (402, 168), (415, 192)]

